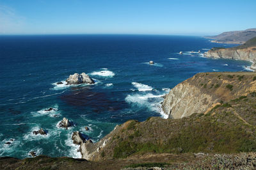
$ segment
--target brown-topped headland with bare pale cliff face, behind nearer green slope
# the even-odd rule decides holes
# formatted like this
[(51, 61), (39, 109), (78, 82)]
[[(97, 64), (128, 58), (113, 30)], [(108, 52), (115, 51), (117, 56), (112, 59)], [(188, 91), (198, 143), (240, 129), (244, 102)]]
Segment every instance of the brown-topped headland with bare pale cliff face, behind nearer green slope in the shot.
[(253, 72), (198, 73), (166, 95), (163, 111), (174, 119), (204, 113), (218, 103), (255, 91), (254, 76)]

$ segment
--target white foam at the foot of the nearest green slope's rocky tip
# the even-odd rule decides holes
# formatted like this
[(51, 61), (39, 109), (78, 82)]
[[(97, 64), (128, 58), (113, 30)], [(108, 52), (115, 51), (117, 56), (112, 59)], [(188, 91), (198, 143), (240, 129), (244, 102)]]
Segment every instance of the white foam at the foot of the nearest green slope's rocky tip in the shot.
[(72, 133), (68, 134), (67, 140), (65, 140), (65, 145), (70, 147), (70, 150), (68, 150), (68, 157), (72, 158), (81, 158), (81, 152), (77, 151), (79, 150), (79, 144), (74, 144), (72, 140)]

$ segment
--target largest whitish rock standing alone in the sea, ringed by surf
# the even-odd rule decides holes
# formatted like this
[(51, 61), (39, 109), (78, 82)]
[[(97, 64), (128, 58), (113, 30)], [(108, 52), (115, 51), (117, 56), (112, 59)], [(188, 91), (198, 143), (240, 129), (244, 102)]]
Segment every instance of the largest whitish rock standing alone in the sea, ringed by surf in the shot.
[(81, 84), (81, 83), (88, 83), (94, 84), (95, 82), (89, 75), (86, 73), (74, 73), (73, 75), (69, 75), (68, 79), (66, 80), (67, 84)]

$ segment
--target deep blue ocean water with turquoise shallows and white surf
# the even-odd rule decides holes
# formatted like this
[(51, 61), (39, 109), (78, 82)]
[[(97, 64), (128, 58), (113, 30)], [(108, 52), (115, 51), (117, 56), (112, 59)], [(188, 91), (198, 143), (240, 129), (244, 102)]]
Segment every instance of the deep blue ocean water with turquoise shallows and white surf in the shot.
[[(195, 73), (246, 71), (250, 62), (191, 52), (220, 46), (198, 36), (0, 36), (0, 156), (81, 157), (72, 132), (97, 142), (127, 120), (163, 116), (162, 96)], [(76, 72), (97, 83), (56, 84)], [(56, 111), (45, 112), (49, 107)], [(58, 128), (63, 117), (74, 127)], [(41, 127), (48, 134), (33, 135)]]

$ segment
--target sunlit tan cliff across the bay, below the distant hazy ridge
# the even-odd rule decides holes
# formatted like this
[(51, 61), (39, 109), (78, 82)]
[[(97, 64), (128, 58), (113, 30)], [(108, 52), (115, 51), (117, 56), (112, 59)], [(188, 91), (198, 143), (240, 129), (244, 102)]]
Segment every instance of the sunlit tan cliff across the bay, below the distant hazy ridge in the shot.
[(244, 49), (229, 48), (229, 49), (211, 49), (207, 52), (208, 58), (225, 58), (225, 59), (239, 59), (245, 61), (252, 61), (251, 68), (256, 70), (256, 46), (247, 47)]

